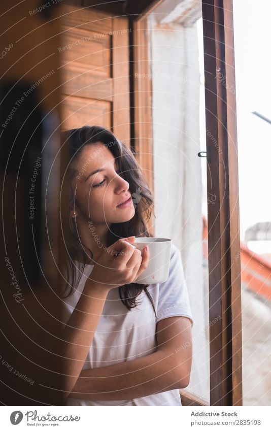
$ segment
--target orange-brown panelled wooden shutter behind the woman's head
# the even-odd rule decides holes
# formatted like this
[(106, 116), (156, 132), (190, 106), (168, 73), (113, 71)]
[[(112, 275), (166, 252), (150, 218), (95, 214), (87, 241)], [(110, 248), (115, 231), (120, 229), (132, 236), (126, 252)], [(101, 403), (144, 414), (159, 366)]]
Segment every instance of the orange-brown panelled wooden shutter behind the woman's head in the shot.
[(130, 145), (128, 44), (127, 18), (62, 7), (62, 129), (100, 125)]

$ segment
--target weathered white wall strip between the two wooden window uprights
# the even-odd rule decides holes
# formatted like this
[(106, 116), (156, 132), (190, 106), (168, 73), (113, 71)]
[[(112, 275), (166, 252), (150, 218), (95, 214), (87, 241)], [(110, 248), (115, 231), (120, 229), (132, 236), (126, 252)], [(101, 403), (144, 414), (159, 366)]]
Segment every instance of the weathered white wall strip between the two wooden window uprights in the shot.
[[(168, 7), (166, 7), (168, 5)], [(156, 237), (180, 252), (193, 325), (193, 363), (185, 391), (210, 402), (207, 165), (201, 5), (149, 15)], [(187, 6), (188, 8), (188, 6)], [(165, 10), (167, 9), (167, 13)], [(186, 14), (187, 12), (187, 14)], [(212, 196), (209, 196), (212, 200)], [(180, 346), (185, 348), (185, 346)]]

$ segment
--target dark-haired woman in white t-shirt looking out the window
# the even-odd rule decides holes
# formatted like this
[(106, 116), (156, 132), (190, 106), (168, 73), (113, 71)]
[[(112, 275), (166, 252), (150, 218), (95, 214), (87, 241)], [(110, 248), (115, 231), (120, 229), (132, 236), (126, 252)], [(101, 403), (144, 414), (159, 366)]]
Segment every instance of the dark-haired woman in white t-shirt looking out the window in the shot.
[(137, 284), (149, 251), (141, 254), (132, 243), (151, 237), (146, 219), (153, 209), (142, 170), (130, 149), (103, 127), (68, 130), (64, 138), (64, 183), (70, 190), (69, 223), (63, 226), (69, 290), (63, 294), (64, 403), (180, 406), (156, 340), (162, 319), (184, 316), (193, 324), (180, 251), (172, 245), (166, 282)]

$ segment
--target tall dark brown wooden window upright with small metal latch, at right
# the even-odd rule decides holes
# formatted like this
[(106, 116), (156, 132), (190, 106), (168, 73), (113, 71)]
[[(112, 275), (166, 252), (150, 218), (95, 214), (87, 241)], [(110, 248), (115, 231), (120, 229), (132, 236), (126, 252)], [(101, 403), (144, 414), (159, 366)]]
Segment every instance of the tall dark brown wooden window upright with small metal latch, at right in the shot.
[(237, 406), (242, 405), (242, 320), (232, 2), (208, 0), (202, 15), (210, 322), (221, 317), (210, 325), (210, 404)]

